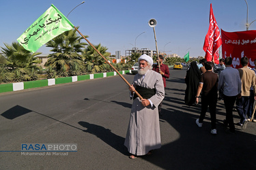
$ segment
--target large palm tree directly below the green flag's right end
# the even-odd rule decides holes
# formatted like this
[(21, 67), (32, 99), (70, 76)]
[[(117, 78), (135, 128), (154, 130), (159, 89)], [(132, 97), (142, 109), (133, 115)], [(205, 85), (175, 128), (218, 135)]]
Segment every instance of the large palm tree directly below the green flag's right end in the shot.
[[(88, 37), (85, 35), (85, 37)], [(77, 35), (76, 30), (66, 31), (46, 43), (46, 47), (52, 48), (48, 61), (45, 66), (51, 66), (59, 73), (66, 73), (77, 67), (83, 67), (83, 52), (86, 43), (82, 42), (81, 36)]]

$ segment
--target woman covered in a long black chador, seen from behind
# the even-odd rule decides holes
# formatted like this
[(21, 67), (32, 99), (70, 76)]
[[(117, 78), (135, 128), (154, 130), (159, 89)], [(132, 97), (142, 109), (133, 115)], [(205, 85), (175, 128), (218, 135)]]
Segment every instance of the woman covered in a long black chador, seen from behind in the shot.
[(186, 105), (195, 104), (195, 95), (197, 95), (197, 86), (201, 78), (201, 72), (197, 67), (197, 62), (190, 63), (188, 71), (186, 71), (186, 91), (185, 91), (185, 103)]

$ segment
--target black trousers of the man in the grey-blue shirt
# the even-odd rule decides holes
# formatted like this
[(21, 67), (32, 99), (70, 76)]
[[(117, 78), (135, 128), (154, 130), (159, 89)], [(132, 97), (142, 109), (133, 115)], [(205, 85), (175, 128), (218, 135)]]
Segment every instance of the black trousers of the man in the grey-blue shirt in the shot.
[(226, 108), (226, 121), (229, 124), (229, 131), (235, 132), (235, 125), (233, 124), (233, 105), (236, 102), (237, 96), (223, 95), (224, 104)]

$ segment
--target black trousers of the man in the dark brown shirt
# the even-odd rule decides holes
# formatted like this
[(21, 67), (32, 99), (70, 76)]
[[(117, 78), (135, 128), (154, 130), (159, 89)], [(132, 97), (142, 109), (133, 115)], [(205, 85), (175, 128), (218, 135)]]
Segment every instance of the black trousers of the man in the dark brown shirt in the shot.
[(216, 129), (216, 105), (217, 105), (217, 94), (214, 96), (201, 96), (201, 114), (199, 117), (199, 122), (202, 123), (205, 118), (209, 106), (209, 112), (211, 116), (212, 129)]

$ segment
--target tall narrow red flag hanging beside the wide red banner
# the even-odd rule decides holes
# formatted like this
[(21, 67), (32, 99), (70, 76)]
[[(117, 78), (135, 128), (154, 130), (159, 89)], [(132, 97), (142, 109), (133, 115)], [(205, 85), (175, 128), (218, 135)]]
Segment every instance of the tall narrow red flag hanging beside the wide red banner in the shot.
[(220, 29), (218, 29), (218, 24), (215, 20), (213, 11), (212, 11), (212, 3), (210, 5), (210, 25), (208, 29), (208, 33), (205, 36), (203, 50), (205, 51), (205, 59), (207, 61), (212, 61), (212, 55), (214, 55), (215, 63), (218, 63), (218, 54), (216, 51), (221, 46), (221, 33)]

